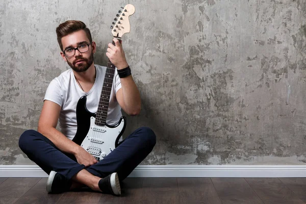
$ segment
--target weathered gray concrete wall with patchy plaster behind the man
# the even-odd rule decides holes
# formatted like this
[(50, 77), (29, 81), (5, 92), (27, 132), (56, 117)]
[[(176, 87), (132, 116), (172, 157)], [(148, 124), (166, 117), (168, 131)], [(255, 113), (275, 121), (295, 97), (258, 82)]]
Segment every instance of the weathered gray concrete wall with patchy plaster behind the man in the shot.
[(136, 13), (123, 46), (142, 97), (126, 134), (146, 125), (158, 138), (142, 164), (305, 164), (305, 0), (0, 0), (0, 164), (34, 164), (18, 138), (37, 129), (49, 82), (68, 68), (57, 25), (84, 21), (106, 65), (126, 4)]

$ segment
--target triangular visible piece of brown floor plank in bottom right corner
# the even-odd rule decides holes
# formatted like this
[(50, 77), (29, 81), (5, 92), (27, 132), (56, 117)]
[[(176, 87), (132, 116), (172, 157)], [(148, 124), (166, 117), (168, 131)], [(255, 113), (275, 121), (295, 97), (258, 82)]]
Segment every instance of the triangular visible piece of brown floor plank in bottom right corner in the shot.
[(279, 180), (306, 202), (306, 178), (280, 178)]

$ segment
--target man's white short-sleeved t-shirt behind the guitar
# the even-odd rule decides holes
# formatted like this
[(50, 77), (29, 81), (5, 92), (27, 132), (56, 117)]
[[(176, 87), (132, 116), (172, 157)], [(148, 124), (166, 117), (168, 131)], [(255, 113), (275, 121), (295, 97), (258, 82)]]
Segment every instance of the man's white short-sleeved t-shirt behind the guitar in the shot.
[[(88, 92), (84, 92), (74, 78), (72, 69), (68, 69), (52, 80), (46, 90), (44, 100), (50, 100), (61, 106), (60, 127), (61, 132), (70, 140), (77, 133), (77, 104), (79, 99), (87, 95), (86, 107), (88, 111), (95, 113), (98, 109), (99, 97), (103, 87), (103, 80), (106, 67), (96, 67), (96, 80)], [(121, 107), (116, 99), (116, 93), (121, 88), (120, 78), (117, 69), (114, 74), (112, 92), (106, 123), (114, 125), (118, 123), (121, 114)]]

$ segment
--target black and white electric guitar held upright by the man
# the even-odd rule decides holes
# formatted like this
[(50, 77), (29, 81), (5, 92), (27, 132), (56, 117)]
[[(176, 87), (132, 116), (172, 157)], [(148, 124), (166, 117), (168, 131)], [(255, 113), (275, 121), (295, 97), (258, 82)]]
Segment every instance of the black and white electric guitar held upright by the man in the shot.
[[(119, 41), (123, 34), (130, 33), (129, 16), (135, 13), (135, 7), (131, 4), (121, 9), (115, 18), (116, 22), (111, 25), (112, 34)], [(72, 141), (81, 145), (97, 161), (104, 159), (118, 146), (126, 126), (124, 116), (116, 125), (106, 123), (114, 73), (115, 66), (108, 60), (96, 113), (91, 113), (86, 108), (86, 96), (82, 96), (77, 104), (77, 133)]]

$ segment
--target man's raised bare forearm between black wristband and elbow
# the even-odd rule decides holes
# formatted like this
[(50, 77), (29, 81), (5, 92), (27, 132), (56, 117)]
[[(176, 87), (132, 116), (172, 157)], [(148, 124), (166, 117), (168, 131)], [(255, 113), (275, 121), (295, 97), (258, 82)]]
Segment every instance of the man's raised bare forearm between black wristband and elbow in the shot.
[(141, 109), (140, 93), (132, 75), (121, 78), (120, 82), (125, 106), (124, 111), (129, 115), (139, 114)]

